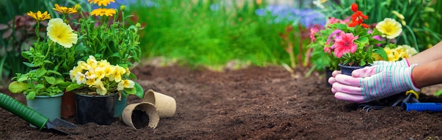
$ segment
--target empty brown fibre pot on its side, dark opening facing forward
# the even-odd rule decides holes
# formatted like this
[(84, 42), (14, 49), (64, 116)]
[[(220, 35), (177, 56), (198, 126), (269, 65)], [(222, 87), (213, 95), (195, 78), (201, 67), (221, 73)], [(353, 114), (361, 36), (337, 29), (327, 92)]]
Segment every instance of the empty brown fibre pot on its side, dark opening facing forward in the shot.
[(132, 103), (123, 110), (123, 121), (126, 125), (139, 129), (146, 125), (155, 128), (160, 122), (158, 110), (153, 103)]

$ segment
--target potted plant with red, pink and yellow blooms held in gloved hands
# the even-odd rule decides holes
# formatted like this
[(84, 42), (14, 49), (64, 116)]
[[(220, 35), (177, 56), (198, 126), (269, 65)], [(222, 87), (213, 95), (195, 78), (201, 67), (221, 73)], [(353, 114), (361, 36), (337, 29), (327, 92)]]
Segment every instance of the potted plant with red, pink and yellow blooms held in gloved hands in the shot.
[[(369, 17), (358, 11), (357, 4), (352, 4), (350, 9), (353, 12), (350, 20), (330, 23), (321, 34), (313, 36), (322, 39), (322, 42), (314, 44), (320, 44), (327, 53), (333, 53), (330, 59), (338, 60), (340, 70), (346, 75), (351, 75), (352, 70), (371, 65), (376, 60), (387, 60), (388, 56), (383, 48), (395, 46), (395, 38), (402, 33), (402, 25), (392, 18), (367, 25), (364, 20)], [(312, 34), (316, 35), (316, 32)]]

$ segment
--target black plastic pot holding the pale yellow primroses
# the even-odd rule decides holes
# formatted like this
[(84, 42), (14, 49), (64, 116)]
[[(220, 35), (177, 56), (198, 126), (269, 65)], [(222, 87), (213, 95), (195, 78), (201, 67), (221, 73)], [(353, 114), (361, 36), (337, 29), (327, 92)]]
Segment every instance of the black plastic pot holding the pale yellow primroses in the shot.
[(111, 125), (114, 121), (115, 102), (118, 94), (88, 96), (76, 93), (76, 122), (84, 125), (94, 122), (97, 125)]

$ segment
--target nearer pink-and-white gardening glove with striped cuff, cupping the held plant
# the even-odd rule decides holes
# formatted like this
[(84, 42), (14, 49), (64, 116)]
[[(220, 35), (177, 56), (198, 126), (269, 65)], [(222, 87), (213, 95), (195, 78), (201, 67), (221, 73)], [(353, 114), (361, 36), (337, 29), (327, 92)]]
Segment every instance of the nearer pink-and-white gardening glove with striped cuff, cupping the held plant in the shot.
[[(343, 101), (364, 103), (386, 98), (413, 89), (420, 91), (412, 82), (412, 70), (416, 65), (374, 65), (352, 72), (335, 75), (332, 92)], [(329, 81), (330, 81), (329, 79)]]

